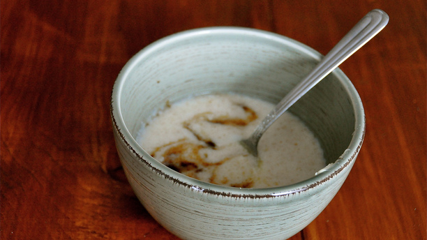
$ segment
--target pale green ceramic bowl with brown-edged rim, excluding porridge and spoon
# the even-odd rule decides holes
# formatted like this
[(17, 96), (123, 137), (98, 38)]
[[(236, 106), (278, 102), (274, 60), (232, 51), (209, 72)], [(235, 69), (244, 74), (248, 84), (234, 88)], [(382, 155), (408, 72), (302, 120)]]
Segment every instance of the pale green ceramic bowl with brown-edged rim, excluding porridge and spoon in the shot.
[(135, 138), (153, 112), (189, 96), (240, 93), (278, 103), (321, 58), (275, 33), (214, 27), (168, 36), (130, 59), (114, 84), (111, 116), (126, 177), (151, 216), (181, 239), (286, 239), (313, 221), (347, 178), (364, 139), (361, 100), (339, 69), (289, 110), (331, 163), (305, 181), (262, 189), (205, 183), (165, 167)]

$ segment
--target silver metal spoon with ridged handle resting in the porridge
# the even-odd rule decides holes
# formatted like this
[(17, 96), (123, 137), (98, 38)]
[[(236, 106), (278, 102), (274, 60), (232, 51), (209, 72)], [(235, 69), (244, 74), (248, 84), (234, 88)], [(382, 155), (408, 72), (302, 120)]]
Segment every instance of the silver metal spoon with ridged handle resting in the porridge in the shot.
[(361, 46), (368, 42), (373, 36), (379, 33), (389, 22), (389, 15), (383, 10), (374, 9), (365, 15), (334, 48), (315, 66), (313, 70), (297, 84), (285, 98), (280, 100), (280, 103), (265, 117), (260, 125), (246, 140), (241, 140), (240, 143), (245, 147), (250, 154), (258, 156), (258, 142), (262, 134), (271, 126), (271, 124), (280, 117), (290, 106), (292, 106), (301, 96), (304, 96), (308, 90), (313, 88), (315, 84), (320, 82), (340, 63), (345, 61), (354, 52), (359, 50)]

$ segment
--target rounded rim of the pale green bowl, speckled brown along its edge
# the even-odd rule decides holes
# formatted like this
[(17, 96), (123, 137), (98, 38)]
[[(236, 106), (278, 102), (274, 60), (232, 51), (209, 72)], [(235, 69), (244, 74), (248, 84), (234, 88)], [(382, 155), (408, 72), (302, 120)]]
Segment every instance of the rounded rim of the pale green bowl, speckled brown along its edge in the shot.
[(144, 149), (142, 149), (142, 147), (140, 147), (140, 145), (137, 144), (136, 140), (132, 137), (128, 128), (126, 128), (126, 125), (123, 121), (123, 117), (121, 115), (121, 89), (123, 87), (123, 84), (126, 82), (128, 74), (133, 68), (135, 68), (135, 66), (137, 66), (137, 63), (140, 62), (141, 59), (144, 59), (144, 57), (147, 56), (147, 54), (156, 51), (165, 45), (169, 45), (175, 40), (192, 38), (193, 36), (201, 34), (218, 33), (241, 36), (250, 35), (257, 36), (259, 38), (268, 38), (271, 41), (276, 41), (283, 45), (292, 45), (292, 47), (308, 53), (310, 56), (313, 57), (313, 59), (320, 60), (322, 57), (319, 52), (302, 43), (297, 42), (296, 40), (292, 40), (291, 38), (280, 36), (276, 33), (270, 33), (267, 31), (247, 29), (241, 27), (208, 27), (202, 29), (193, 29), (183, 31), (181, 33), (175, 33), (171, 36), (167, 36), (165, 38), (157, 40), (154, 43), (151, 43), (151, 45), (145, 47), (143, 50), (135, 54), (135, 56), (132, 57), (123, 67), (123, 69), (119, 73), (119, 76), (117, 77), (116, 82), (114, 83), (110, 102), (110, 114), (114, 130), (117, 130), (117, 133), (119, 133), (121, 140), (124, 142), (124, 144), (126, 144), (128, 151), (135, 154), (135, 156), (139, 158), (141, 164), (147, 165), (147, 167), (149, 167), (154, 172), (157, 172), (158, 174), (162, 175), (163, 177), (165, 177), (165, 179), (169, 179), (170, 181), (174, 181), (174, 183), (177, 183), (181, 186), (191, 188), (202, 193), (220, 195), (224, 197), (269, 198), (286, 197), (287, 195), (293, 195), (296, 193), (303, 193), (308, 190), (314, 190), (317, 186), (322, 185), (322, 183), (325, 183), (336, 177), (336, 175), (340, 174), (340, 172), (342, 172), (346, 167), (349, 167), (350, 163), (354, 162), (364, 140), (366, 130), (365, 113), (357, 90), (354, 88), (352, 82), (350, 82), (348, 77), (339, 68), (336, 68), (336, 70), (334, 70), (331, 74), (334, 74), (335, 77), (337, 77), (340, 83), (343, 84), (344, 90), (347, 91), (347, 95), (350, 96), (352, 106), (354, 107), (354, 133), (352, 136), (352, 140), (349, 146), (347, 147), (347, 149), (350, 149), (350, 151), (345, 151), (343, 155), (341, 155), (340, 158), (338, 158), (336, 162), (331, 167), (329, 167), (329, 171), (327, 172), (322, 172), (311, 177), (310, 179), (287, 186), (280, 186), (274, 188), (234, 188), (228, 186), (220, 186), (213, 183), (207, 183), (204, 181), (199, 181), (197, 179), (187, 177), (186, 175), (180, 174), (179, 172), (175, 172), (169, 167), (166, 167), (162, 163), (158, 162), (158, 160), (151, 157), (146, 151), (144, 151)]

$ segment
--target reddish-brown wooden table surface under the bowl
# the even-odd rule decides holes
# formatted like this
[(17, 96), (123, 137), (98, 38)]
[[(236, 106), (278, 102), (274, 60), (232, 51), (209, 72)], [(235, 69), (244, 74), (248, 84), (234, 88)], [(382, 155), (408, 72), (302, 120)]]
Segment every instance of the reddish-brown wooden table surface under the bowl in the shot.
[(364, 102), (347, 181), (292, 239), (426, 239), (426, 1), (1, 1), (1, 239), (177, 239), (123, 177), (110, 93), (177, 31), (241, 26), (326, 54), (369, 10), (389, 25), (340, 67)]

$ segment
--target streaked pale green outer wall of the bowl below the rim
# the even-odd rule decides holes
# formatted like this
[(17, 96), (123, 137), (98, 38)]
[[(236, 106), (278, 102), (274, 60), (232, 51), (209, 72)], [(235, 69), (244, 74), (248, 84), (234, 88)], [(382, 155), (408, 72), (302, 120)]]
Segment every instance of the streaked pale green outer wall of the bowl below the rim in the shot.
[[(126, 177), (154, 219), (181, 239), (287, 239), (313, 221), (336, 195), (354, 160), (334, 178), (279, 196), (209, 193), (160, 174), (114, 128)], [(356, 156), (354, 156), (355, 158)]]

